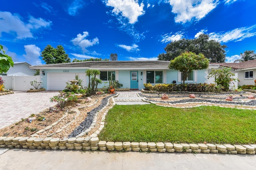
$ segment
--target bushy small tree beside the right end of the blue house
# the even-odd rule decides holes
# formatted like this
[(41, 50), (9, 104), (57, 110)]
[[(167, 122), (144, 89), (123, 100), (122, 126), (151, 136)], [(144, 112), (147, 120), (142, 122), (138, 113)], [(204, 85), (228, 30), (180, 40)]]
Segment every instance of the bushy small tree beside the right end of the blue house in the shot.
[(208, 75), (208, 78), (214, 77), (214, 82), (217, 85), (220, 85), (224, 88), (224, 90), (228, 91), (230, 82), (239, 81), (238, 78), (234, 78), (234, 73), (230, 72), (231, 68), (221, 68), (216, 70), (211, 70)]

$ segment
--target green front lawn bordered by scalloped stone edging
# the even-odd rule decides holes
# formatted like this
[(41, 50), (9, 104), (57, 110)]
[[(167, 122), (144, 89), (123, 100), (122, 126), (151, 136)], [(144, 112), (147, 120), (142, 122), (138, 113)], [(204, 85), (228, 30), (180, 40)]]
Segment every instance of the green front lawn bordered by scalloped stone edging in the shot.
[(116, 105), (101, 141), (256, 144), (256, 110)]

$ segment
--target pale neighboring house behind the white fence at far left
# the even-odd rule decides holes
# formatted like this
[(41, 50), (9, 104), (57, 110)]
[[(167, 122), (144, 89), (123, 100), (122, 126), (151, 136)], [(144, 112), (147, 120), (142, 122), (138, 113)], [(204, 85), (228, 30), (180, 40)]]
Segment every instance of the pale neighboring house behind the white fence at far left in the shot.
[(29, 68), (31, 66), (27, 62), (14, 62), (13, 67), (11, 66), (6, 74), (7, 76), (34, 76), (36, 70)]

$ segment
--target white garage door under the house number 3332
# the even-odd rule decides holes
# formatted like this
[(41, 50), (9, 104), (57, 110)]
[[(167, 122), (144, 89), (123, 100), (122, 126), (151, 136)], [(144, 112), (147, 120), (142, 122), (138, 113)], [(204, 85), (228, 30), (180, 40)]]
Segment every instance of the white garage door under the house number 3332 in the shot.
[(86, 86), (85, 73), (48, 73), (47, 90), (63, 90), (66, 87), (66, 82), (74, 80), (76, 74), (83, 80), (83, 86)]

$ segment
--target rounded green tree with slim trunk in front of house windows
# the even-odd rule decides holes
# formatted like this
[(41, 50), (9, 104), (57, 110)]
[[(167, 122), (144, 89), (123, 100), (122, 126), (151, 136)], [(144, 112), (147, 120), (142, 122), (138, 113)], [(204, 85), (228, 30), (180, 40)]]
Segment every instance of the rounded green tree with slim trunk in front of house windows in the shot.
[(183, 84), (188, 77), (188, 74), (193, 70), (203, 70), (208, 68), (209, 59), (206, 59), (203, 54), (196, 55), (192, 52), (185, 52), (170, 61), (169, 68), (182, 72)]

